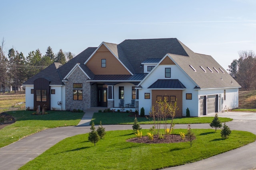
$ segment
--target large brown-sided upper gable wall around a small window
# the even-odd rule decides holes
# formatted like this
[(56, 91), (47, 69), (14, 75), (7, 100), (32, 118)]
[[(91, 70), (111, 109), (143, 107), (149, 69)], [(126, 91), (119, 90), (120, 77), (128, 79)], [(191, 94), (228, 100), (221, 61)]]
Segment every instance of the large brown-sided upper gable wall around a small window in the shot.
[[(106, 59), (106, 67), (101, 67), (102, 59)], [(88, 66), (88, 68), (95, 75), (130, 75), (128, 70), (118, 61), (118, 59), (116, 59), (116, 57), (103, 44), (92, 56), (92, 58), (88, 61), (88, 63), (86, 63), (86, 66)]]

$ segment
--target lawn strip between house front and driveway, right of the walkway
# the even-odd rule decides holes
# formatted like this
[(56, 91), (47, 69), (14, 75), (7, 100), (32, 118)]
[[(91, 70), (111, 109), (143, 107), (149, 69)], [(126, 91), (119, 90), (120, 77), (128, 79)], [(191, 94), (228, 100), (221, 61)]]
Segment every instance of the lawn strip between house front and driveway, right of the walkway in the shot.
[[(117, 124), (133, 124), (134, 117), (129, 116), (130, 113), (94, 113), (92, 121), (94, 124), (104, 125), (117, 125)], [(137, 117), (140, 124), (154, 124), (151, 117)], [(213, 117), (184, 117), (174, 119), (174, 124), (192, 124), (192, 123), (211, 123)], [(233, 119), (219, 117), (221, 122), (232, 121)], [(171, 120), (168, 120), (168, 123), (171, 123)]]

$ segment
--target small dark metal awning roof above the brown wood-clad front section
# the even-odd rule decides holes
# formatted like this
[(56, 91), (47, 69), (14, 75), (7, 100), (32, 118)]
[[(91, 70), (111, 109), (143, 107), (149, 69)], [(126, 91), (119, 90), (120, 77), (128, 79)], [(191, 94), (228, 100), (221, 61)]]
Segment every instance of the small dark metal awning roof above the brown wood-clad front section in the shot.
[(186, 87), (178, 79), (158, 79), (148, 88), (184, 89)]

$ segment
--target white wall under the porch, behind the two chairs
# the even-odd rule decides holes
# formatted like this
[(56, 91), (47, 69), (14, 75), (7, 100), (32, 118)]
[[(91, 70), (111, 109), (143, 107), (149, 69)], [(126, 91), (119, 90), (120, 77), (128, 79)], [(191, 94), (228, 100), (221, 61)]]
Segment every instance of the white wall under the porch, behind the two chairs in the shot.
[(114, 86), (114, 107), (118, 107), (120, 103), (119, 86), (124, 86), (124, 107), (125, 107), (125, 104), (131, 103), (132, 86), (135, 86), (135, 85), (131, 83), (120, 83)]

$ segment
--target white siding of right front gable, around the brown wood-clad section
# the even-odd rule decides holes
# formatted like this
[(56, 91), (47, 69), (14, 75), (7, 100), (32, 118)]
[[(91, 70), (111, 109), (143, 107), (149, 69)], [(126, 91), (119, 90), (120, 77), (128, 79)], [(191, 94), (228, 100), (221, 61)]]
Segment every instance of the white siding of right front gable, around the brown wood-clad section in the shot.
[[(171, 68), (171, 78), (165, 78), (165, 68)], [(186, 116), (186, 108), (190, 109), (191, 116), (198, 116), (198, 90), (194, 90), (196, 84), (175, 64), (160, 64), (153, 72), (142, 82), (142, 89), (139, 90), (139, 106), (144, 107), (145, 115), (149, 115), (152, 105), (152, 92), (148, 87), (158, 79), (178, 79), (186, 87), (182, 90), (182, 115)], [(171, 89), (164, 89), (171, 90)], [(144, 99), (144, 93), (150, 93), (150, 99)], [(186, 93), (192, 94), (192, 100), (186, 100)], [(177, 100), (179, 100), (177, 98)], [(139, 111), (140, 111), (139, 108)]]

